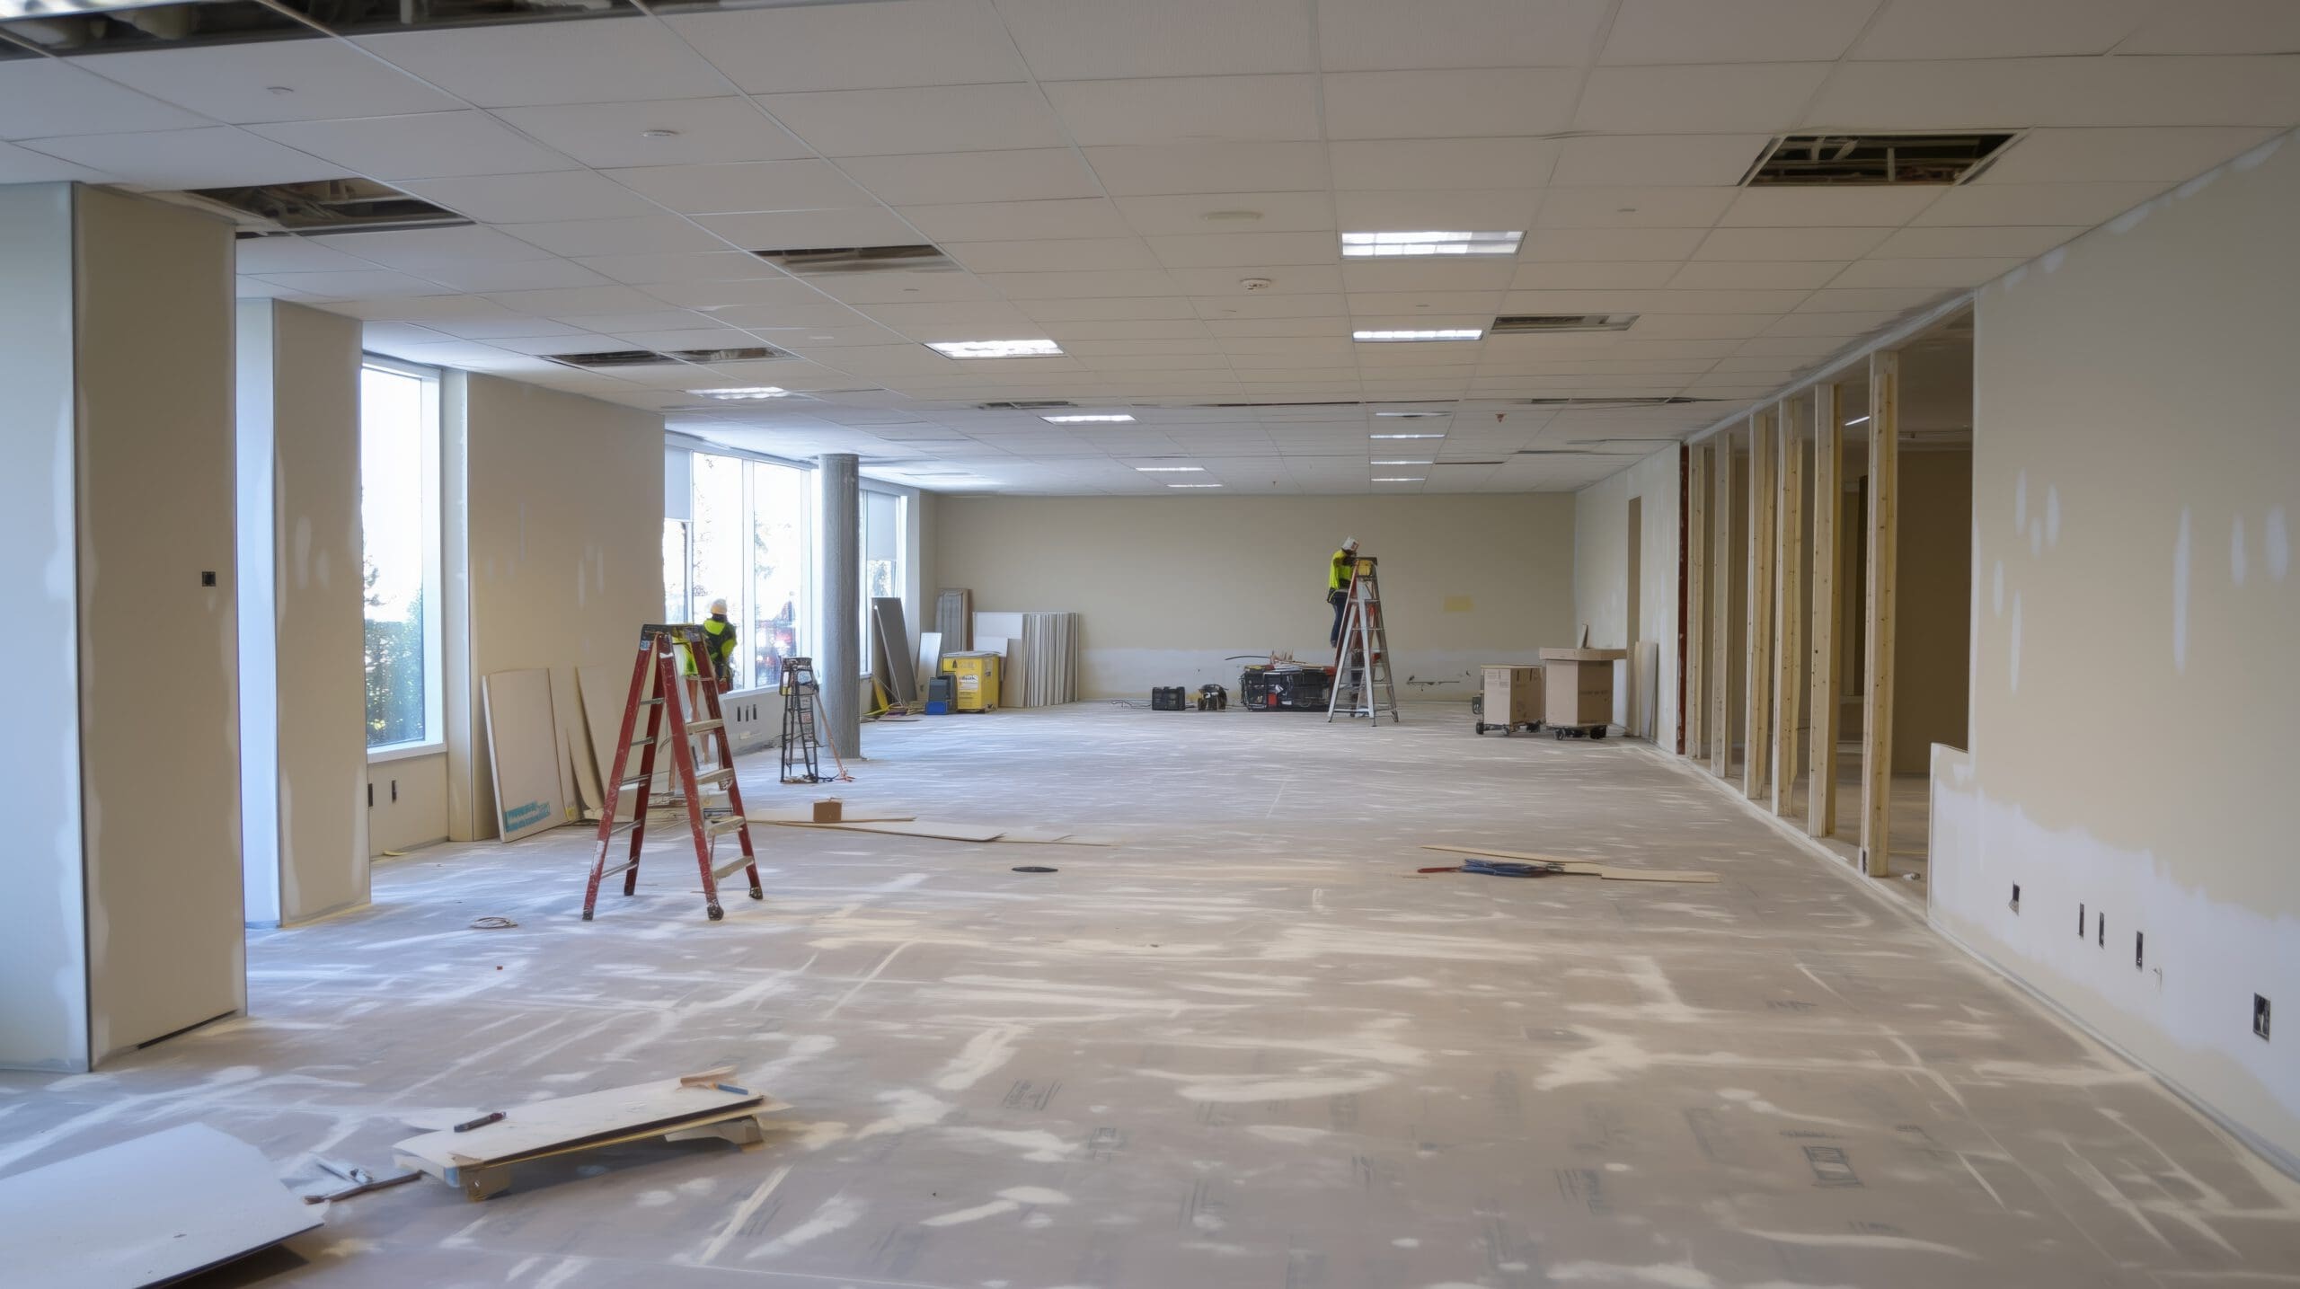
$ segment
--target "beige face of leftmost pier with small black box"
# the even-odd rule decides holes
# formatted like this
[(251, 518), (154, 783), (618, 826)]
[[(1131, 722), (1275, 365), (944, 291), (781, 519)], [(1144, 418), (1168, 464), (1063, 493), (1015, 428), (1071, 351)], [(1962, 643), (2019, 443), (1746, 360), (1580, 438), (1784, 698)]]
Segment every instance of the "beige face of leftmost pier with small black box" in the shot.
[(246, 1004), (232, 227), (103, 188), (78, 188), (74, 214), (80, 802), (101, 1062)]

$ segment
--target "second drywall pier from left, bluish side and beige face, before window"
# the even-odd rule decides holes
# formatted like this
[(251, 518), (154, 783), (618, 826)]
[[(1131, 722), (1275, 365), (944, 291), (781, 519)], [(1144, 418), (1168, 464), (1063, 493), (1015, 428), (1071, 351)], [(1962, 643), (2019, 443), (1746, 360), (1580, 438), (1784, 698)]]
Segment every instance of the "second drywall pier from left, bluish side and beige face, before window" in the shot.
[(239, 733), (248, 924), (368, 901), (359, 322), (239, 301)]

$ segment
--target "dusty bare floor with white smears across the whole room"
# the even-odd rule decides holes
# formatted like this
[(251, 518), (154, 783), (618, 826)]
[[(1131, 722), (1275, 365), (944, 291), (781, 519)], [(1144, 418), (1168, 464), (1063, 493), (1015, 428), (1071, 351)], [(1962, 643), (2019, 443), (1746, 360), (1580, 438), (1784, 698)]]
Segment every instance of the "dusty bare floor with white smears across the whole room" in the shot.
[[(248, 1018), (0, 1075), (0, 1172), (198, 1119), (310, 1181), (738, 1064), (793, 1105), (761, 1149), (366, 1195), (209, 1284), (2300, 1282), (2300, 1186), (1651, 749), (1109, 705), (867, 747), (851, 802), (1127, 846), (761, 829), (722, 924), (669, 843), (593, 924), (573, 829), (423, 850), (251, 937)], [(1426, 841), (1725, 880), (1417, 875)]]

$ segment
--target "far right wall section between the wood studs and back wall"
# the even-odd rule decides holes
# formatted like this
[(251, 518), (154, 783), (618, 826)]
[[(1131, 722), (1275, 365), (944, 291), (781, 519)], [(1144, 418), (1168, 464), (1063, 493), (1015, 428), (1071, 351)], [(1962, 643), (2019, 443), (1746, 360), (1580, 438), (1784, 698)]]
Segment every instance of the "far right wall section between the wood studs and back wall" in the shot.
[[(1573, 613), (1594, 648), (1631, 648), (1628, 512), (1638, 499), (1638, 630), (1658, 646), (1656, 740), (1677, 747), (1679, 448), (1654, 453), (1573, 494)], [(1615, 721), (1628, 726), (1631, 664), (1615, 664)]]

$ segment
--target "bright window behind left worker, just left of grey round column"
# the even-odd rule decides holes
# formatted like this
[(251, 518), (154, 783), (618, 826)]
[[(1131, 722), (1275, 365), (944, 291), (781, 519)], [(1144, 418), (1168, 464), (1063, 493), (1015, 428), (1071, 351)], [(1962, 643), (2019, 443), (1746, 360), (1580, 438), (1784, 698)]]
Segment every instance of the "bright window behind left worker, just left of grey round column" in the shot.
[(699, 623), (727, 600), (736, 625), (734, 682), (764, 689), (784, 657), (810, 646), (812, 563), (807, 471), (695, 453), (688, 522), (662, 526), (662, 581), (674, 620)]

